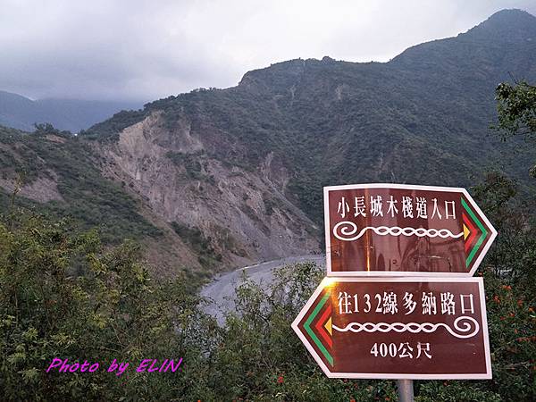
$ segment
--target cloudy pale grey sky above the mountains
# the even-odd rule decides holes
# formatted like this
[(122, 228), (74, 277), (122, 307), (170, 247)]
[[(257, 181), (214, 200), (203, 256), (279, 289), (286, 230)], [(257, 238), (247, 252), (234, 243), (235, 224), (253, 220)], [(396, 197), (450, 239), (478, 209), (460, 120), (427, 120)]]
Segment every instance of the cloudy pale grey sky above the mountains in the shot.
[(536, 0), (0, 0), (0, 89), (153, 100), (297, 57), (385, 62)]

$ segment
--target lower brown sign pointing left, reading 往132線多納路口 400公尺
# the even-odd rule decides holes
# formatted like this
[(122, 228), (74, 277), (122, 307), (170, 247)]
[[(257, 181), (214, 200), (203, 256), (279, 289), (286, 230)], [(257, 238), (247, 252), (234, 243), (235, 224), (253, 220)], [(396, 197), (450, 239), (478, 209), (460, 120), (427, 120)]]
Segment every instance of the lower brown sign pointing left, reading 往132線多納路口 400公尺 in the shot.
[(325, 278), (292, 328), (338, 378), (490, 379), (482, 278)]

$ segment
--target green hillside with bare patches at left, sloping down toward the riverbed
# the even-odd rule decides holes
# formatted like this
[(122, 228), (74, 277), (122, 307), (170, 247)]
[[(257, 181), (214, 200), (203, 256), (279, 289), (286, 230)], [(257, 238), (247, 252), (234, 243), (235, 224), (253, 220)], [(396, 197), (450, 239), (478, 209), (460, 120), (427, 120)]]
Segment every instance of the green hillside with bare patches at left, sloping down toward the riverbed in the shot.
[(15, 192), (15, 207), (68, 217), (73, 230), (96, 228), (107, 244), (141, 241), (160, 275), (210, 272), (212, 267), (198, 262), (200, 253), (129, 194), (124, 183), (103, 176), (101, 162), (87, 142), (66, 131), (26, 133), (0, 126), (0, 213), (8, 214)]

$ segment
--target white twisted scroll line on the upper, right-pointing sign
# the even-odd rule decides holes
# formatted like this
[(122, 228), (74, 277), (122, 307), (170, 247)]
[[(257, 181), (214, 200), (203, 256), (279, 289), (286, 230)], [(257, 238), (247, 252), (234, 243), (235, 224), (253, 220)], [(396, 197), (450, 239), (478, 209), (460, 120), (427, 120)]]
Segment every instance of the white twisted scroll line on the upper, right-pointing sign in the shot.
[[(356, 239), (361, 238), (364, 235), (364, 232), (366, 230), (373, 230), (374, 233), (380, 235), (380, 236), (417, 236), (419, 238), (423, 237), (429, 237), (429, 238), (437, 238), (440, 237), (441, 239), (457, 239), (464, 236), (464, 232), (454, 234), (448, 229), (424, 229), (424, 228), (399, 228), (398, 226), (393, 226), (391, 228), (387, 226), (366, 226), (364, 227), (359, 233), (357, 233), (357, 225), (354, 222), (350, 221), (343, 221), (339, 222), (335, 225), (333, 228), (333, 236), (335, 236), (339, 240), (344, 241), (353, 241)], [(356, 234), (357, 233), (357, 234)], [(356, 235), (356, 236), (354, 236)]]

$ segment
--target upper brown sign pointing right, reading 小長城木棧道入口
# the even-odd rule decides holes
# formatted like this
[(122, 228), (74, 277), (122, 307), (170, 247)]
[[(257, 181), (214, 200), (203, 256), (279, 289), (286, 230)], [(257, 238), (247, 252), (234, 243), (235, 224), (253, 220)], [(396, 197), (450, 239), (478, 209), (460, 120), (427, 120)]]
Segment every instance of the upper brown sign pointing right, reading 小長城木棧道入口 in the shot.
[(472, 276), (497, 231), (464, 188), (324, 188), (328, 276)]

